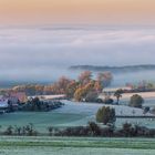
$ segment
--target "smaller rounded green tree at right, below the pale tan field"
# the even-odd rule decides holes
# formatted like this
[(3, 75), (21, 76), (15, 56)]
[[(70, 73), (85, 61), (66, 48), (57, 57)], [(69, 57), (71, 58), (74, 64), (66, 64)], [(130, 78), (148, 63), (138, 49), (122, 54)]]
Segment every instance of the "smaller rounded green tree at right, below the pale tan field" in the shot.
[(144, 99), (138, 95), (138, 94), (135, 94), (131, 97), (131, 101), (130, 101), (130, 106), (132, 107), (140, 107), (142, 108), (142, 104), (144, 103)]

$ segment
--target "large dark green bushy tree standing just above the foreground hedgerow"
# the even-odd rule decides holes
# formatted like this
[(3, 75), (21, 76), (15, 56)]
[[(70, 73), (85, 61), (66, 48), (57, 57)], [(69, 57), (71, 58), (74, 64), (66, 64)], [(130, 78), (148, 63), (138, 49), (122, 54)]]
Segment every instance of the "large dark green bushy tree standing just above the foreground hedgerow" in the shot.
[(110, 106), (103, 106), (102, 108), (99, 108), (96, 113), (96, 121), (100, 123), (104, 123), (105, 125), (107, 123), (114, 123), (116, 121), (115, 110), (110, 108)]

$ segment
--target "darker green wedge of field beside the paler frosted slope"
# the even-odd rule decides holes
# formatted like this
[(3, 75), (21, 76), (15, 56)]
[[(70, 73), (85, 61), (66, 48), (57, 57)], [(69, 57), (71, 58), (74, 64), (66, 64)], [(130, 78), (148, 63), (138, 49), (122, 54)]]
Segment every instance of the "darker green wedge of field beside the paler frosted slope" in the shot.
[(39, 132), (48, 132), (49, 126), (65, 127), (74, 125), (83, 125), (86, 114), (56, 113), (56, 112), (18, 112), (0, 115), (1, 130), (9, 125), (24, 126), (32, 123)]

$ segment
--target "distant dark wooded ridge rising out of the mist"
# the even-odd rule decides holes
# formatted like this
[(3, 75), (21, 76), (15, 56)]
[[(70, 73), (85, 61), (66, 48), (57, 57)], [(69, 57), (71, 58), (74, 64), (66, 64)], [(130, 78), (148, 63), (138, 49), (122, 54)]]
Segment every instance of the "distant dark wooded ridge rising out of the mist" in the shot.
[(155, 64), (124, 65), (124, 66), (73, 65), (70, 66), (69, 70), (93, 71), (93, 72), (110, 71), (112, 73), (122, 73), (122, 72), (152, 71), (155, 70)]

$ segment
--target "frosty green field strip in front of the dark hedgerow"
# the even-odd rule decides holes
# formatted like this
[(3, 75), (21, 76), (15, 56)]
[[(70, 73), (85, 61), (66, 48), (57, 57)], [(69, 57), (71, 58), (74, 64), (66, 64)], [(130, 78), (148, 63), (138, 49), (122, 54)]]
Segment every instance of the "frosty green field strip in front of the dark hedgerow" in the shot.
[(0, 137), (0, 155), (154, 155), (152, 138)]

